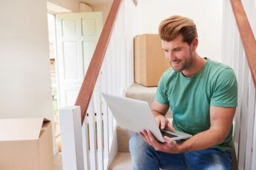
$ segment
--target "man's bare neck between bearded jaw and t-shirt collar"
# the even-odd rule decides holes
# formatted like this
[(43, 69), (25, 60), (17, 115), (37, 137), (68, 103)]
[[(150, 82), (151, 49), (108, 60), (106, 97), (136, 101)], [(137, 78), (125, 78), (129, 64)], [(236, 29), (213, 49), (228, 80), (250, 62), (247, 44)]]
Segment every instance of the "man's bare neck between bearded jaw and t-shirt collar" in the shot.
[(196, 75), (196, 73), (201, 71), (202, 68), (205, 66), (206, 61), (206, 59), (203, 59), (197, 53), (195, 53), (195, 57), (193, 58), (191, 67), (182, 71), (182, 74), (187, 77), (192, 77)]

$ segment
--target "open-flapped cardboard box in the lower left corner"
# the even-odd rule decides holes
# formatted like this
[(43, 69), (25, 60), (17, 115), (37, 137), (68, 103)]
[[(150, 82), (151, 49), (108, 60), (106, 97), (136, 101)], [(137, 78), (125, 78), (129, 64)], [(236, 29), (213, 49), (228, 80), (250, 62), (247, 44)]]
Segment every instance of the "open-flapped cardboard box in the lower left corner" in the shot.
[(51, 121), (0, 120), (0, 169), (54, 170)]

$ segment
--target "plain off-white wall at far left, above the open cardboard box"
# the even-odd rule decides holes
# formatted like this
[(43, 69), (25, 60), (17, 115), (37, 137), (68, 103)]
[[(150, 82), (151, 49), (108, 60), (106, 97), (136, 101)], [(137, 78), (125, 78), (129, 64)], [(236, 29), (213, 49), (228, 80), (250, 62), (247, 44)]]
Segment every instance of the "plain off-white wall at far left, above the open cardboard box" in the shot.
[(0, 118), (53, 120), (45, 0), (1, 1), (0, 9)]

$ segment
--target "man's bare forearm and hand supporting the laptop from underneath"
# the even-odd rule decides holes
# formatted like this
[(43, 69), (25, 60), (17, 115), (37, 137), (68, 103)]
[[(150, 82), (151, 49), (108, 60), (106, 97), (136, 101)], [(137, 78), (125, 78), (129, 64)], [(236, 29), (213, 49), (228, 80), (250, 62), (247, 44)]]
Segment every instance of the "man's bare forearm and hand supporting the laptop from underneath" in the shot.
[(211, 146), (223, 143), (225, 137), (227, 137), (231, 128), (235, 109), (236, 108), (234, 107), (223, 108), (211, 106), (211, 127), (207, 131), (202, 131), (182, 143), (176, 143), (169, 137), (164, 137), (167, 143), (159, 143), (150, 131), (144, 131), (144, 138), (147, 139), (146, 142), (153, 146), (156, 151), (169, 153), (198, 151), (210, 148)]

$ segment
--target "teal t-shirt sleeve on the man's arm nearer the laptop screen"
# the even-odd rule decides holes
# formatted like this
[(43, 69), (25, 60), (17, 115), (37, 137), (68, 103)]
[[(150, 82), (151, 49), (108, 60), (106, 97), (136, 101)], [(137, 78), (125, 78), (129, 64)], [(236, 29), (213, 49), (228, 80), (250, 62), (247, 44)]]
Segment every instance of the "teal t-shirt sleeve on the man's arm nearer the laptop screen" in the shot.
[(164, 75), (161, 76), (161, 79), (159, 81), (159, 85), (156, 90), (155, 99), (157, 102), (160, 102), (164, 105), (169, 105), (168, 97), (167, 97), (167, 91), (166, 85), (164, 85)]

